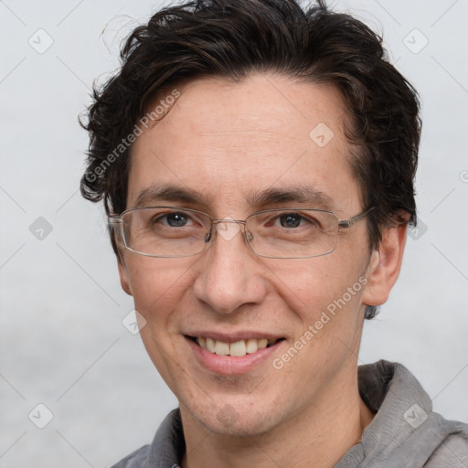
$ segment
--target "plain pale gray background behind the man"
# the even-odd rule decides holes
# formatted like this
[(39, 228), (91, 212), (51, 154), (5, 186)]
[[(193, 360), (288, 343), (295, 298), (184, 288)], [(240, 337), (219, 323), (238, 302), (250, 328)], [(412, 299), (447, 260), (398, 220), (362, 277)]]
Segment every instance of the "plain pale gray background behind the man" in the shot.
[[(78, 192), (87, 135), (77, 115), (90, 84), (117, 67), (122, 37), (159, 5), (0, 1), (3, 468), (109, 466), (150, 441), (176, 406), (140, 337), (122, 325), (133, 303), (102, 208)], [(390, 300), (365, 326), (360, 362), (403, 363), (435, 410), (468, 421), (468, 1), (334, 5), (383, 31), (423, 102), (421, 229)], [(53, 414), (42, 430), (39, 403)]]

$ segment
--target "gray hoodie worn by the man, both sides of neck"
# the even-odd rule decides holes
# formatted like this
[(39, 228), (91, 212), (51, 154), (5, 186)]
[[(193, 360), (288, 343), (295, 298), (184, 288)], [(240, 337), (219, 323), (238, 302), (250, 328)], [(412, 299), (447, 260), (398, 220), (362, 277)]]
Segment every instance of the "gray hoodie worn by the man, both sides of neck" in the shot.
[[(468, 468), (468, 425), (432, 412), (410, 371), (378, 361), (358, 367), (361, 398), (376, 414), (335, 468)], [(151, 445), (112, 468), (177, 468), (185, 451), (179, 410), (159, 426)]]

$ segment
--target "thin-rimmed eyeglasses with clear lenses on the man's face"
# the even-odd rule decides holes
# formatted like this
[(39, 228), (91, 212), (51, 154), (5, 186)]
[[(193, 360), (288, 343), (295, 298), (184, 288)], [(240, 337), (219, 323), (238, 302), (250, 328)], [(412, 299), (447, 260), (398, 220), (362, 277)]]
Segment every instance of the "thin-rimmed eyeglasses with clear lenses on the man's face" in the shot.
[(274, 208), (245, 220), (212, 219), (196, 209), (136, 207), (109, 217), (113, 229), (120, 228), (122, 245), (149, 257), (191, 257), (210, 245), (216, 232), (234, 238), (243, 226), (244, 239), (257, 255), (271, 259), (303, 259), (332, 253), (340, 229), (349, 229), (367, 217), (374, 207), (339, 220), (324, 209)]

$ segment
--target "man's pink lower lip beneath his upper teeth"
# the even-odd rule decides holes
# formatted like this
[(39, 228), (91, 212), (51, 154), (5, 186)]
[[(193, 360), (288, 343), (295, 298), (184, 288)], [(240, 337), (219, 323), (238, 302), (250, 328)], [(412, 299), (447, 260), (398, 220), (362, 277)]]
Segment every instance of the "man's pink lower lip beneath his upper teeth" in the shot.
[(186, 337), (186, 341), (203, 367), (218, 374), (233, 376), (247, 374), (266, 361), (271, 362), (271, 355), (281, 346), (283, 340), (245, 356), (218, 356), (197, 345), (190, 338)]

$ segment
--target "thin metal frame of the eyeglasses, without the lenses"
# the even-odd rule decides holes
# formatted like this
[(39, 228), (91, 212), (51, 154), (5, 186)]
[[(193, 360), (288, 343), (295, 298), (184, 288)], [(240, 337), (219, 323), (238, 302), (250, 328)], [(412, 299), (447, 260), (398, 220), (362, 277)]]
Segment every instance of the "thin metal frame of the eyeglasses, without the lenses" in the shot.
[[(126, 244), (126, 239), (125, 239), (125, 236), (124, 236), (124, 233), (123, 233), (122, 217), (126, 213), (128, 213), (130, 211), (137, 211), (137, 210), (142, 210), (142, 209), (154, 209), (154, 208), (168, 208), (168, 209), (175, 209), (175, 210), (181, 210), (181, 211), (189, 211), (191, 213), (198, 213), (200, 215), (206, 216), (210, 220), (211, 223), (210, 223), (210, 226), (209, 226), (209, 230), (207, 231), (207, 235), (205, 236), (205, 244), (208, 244), (209, 241), (212, 238), (213, 225), (219, 224), (219, 223), (236, 223), (236, 224), (243, 225), (243, 227), (244, 227), (244, 229), (243, 229), (244, 239), (246, 240), (247, 244), (249, 245), (250, 250), (252, 250), (253, 253), (255, 253), (255, 255), (258, 255), (259, 257), (263, 257), (263, 258), (267, 258), (267, 259), (293, 260), (293, 259), (313, 259), (314, 257), (324, 257), (324, 255), (329, 255), (330, 253), (333, 253), (335, 251), (335, 249), (336, 249), (336, 245), (335, 245), (335, 248), (333, 250), (330, 250), (329, 252), (320, 253), (320, 254), (316, 254), (316, 255), (309, 255), (309, 256), (306, 256), (306, 257), (277, 257), (277, 256), (271, 256), (271, 255), (261, 255), (260, 253), (257, 253), (253, 249), (253, 247), (250, 244), (250, 240), (249, 240), (249, 238), (247, 236), (248, 232), (251, 235), (250, 231), (247, 229), (248, 219), (252, 218), (254, 216), (257, 216), (257, 215), (261, 215), (263, 213), (271, 213), (271, 212), (275, 212), (275, 211), (296, 211), (296, 210), (297, 211), (304, 211), (304, 210), (321, 211), (323, 213), (330, 213), (330, 214), (335, 216), (335, 218), (337, 219), (338, 232), (339, 232), (340, 228), (350, 229), (353, 226), (355, 226), (356, 223), (358, 223), (361, 219), (366, 218), (367, 215), (375, 207), (370, 207), (366, 211), (363, 211), (362, 213), (359, 213), (358, 215), (353, 216), (353, 217), (348, 218), (348, 219), (338, 219), (338, 217), (335, 215), (335, 213), (333, 211), (329, 211), (329, 210), (326, 210), (326, 209), (304, 208), (304, 207), (284, 207), (284, 208), (264, 209), (264, 210), (261, 210), (261, 211), (257, 211), (256, 213), (252, 213), (251, 215), (249, 215), (244, 220), (241, 220), (241, 219), (213, 219), (207, 213), (205, 213), (203, 211), (198, 211), (197, 209), (183, 208), (183, 207), (134, 207), (134, 208), (128, 208), (125, 211), (122, 211), (122, 213), (120, 215), (111, 215), (108, 218), (109, 227), (114, 228), (117, 224), (121, 227), (121, 236), (122, 236), (122, 241), (123, 241), (123, 247), (125, 249), (130, 250), (133, 253), (136, 253), (138, 255), (144, 255), (145, 257), (153, 257), (153, 258), (157, 258), (157, 259), (180, 259), (180, 258), (185, 258), (185, 257), (194, 257), (195, 255), (203, 253), (205, 250), (207, 250), (207, 248), (205, 247), (203, 250), (200, 250), (197, 253), (191, 253), (190, 255), (154, 255), (154, 254), (151, 254), (151, 253), (144, 253), (144, 252), (139, 252), (138, 250), (133, 250), (132, 248), (130, 248)], [(336, 244), (337, 244), (337, 241), (336, 241)]]

